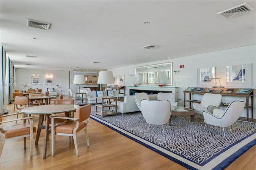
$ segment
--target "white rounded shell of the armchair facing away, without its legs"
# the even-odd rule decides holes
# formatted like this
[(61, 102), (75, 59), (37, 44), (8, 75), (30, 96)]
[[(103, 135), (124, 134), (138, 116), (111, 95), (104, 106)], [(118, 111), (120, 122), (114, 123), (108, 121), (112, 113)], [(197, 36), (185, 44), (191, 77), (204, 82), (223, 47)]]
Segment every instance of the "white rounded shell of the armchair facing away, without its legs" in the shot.
[(151, 125), (164, 125), (171, 115), (171, 104), (168, 100), (142, 100), (142, 115)]

